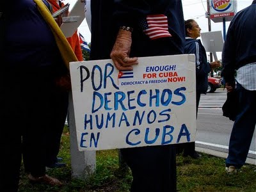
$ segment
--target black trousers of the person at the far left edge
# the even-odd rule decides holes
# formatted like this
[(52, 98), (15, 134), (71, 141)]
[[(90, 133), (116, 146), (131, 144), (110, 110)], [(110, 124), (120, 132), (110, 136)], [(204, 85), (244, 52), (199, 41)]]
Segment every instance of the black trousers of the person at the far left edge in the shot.
[[(1, 70), (0, 191), (17, 191), (21, 152), (33, 175), (45, 174), (45, 122), (52, 118), (54, 68)], [(23, 145), (21, 145), (21, 143)]]

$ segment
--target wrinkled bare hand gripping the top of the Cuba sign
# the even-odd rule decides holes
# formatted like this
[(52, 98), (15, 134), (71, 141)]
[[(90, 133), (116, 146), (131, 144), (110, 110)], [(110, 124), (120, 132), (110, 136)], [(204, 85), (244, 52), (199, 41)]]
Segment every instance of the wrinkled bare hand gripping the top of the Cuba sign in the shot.
[(132, 65), (138, 64), (138, 58), (129, 58), (131, 44), (131, 32), (120, 29), (110, 54), (110, 57), (118, 70), (132, 70)]

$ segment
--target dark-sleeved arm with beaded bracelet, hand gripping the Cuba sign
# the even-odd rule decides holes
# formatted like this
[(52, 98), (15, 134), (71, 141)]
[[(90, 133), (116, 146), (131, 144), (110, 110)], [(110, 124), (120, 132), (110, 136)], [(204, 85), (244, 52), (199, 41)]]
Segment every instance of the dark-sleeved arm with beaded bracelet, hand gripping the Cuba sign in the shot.
[(138, 64), (138, 58), (129, 58), (132, 29), (150, 13), (150, 5), (141, 0), (115, 0), (114, 10), (116, 28), (120, 29), (110, 56), (118, 70), (132, 70), (132, 65)]

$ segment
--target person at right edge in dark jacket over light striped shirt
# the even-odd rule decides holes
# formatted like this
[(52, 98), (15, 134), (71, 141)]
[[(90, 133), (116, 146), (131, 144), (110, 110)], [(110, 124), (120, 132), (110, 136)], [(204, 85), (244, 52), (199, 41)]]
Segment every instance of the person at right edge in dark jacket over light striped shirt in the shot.
[(230, 22), (222, 52), (221, 75), (226, 81), (227, 91), (238, 97), (234, 103), (237, 115), (230, 135), (227, 173), (236, 173), (244, 165), (256, 125), (255, 20), (256, 1), (253, 1)]

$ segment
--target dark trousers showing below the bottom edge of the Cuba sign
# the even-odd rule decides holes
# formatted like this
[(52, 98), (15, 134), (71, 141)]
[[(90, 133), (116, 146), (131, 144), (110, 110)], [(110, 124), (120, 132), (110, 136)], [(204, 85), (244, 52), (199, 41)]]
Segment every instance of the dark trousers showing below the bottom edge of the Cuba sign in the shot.
[(122, 148), (132, 170), (132, 192), (170, 192), (176, 189), (176, 154), (173, 145)]

